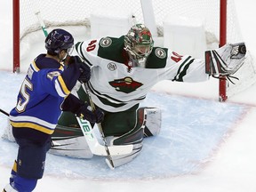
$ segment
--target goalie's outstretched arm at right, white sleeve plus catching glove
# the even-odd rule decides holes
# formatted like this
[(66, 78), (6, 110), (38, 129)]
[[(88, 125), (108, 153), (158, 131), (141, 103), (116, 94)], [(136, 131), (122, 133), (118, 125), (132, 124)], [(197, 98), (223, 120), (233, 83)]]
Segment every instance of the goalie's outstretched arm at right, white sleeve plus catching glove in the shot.
[(209, 76), (230, 76), (244, 64), (246, 47), (244, 43), (225, 44), (219, 49), (206, 51), (205, 60), (168, 51), (168, 75), (172, 81), (203, 82)]

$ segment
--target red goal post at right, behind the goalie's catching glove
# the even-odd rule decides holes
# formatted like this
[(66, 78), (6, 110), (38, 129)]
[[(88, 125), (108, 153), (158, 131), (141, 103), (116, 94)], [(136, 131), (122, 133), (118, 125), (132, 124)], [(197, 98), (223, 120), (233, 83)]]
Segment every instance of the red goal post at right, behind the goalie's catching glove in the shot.
[[(220, 0), (220, 44), (223, 46), (227, 43), (227, 0)], [(220, 76), (219, 80), (219, 100), (225, 101), (227, 96), (226, 76)]]

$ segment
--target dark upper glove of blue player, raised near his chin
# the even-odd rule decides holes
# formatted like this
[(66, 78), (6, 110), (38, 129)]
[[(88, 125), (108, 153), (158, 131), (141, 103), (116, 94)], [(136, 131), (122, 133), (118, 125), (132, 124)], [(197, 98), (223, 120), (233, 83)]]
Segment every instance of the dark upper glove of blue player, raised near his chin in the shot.
[(76, 65), (79, 68), (80, 76), (78, 81), (81, 83), (86, 83), (91, 78), (91, 69), (79, 58), (79, 56), (72, 56), (68, 60), (68, 65)]

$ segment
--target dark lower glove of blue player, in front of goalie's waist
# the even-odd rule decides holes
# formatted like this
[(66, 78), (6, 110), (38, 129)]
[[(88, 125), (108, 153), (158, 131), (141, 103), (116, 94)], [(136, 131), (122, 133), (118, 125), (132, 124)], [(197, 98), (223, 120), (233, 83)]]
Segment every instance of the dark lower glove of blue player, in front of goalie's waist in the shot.
[(94, 112), (92, 112), (91, 106), (87, 104), (84, 104), (77, 110), (76, 116), (86, 119), (91, 123), (97, 124), (101, 123), (104, 119), (104, 113), (100, 110), (100, 108), (97, 108)]

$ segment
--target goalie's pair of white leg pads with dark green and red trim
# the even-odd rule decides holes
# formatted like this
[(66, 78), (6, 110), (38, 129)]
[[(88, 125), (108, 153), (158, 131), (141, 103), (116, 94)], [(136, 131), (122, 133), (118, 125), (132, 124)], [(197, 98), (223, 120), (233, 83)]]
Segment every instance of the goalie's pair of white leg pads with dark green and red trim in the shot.
[[(142, 149), (142, 140), (145, 137), (158, 135), (161, 123), (162, 117), (159, 108), (139, 108), (137, 110), (137, 123), (130, 132), (126, 132), (119, 137), (106, 137), (109, 147), (133, 145), (130, 154), (112, 156), (115, 167), (127, 164), (138, 156)], [(92, 158), (93, 156), (80, 128), (61, 125), (57, 125), (55, 132), (52, 134), (52, 148), (49, 152), (55, 155), (76, 158)]]

